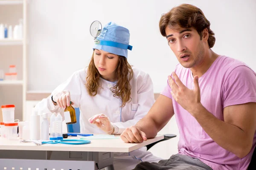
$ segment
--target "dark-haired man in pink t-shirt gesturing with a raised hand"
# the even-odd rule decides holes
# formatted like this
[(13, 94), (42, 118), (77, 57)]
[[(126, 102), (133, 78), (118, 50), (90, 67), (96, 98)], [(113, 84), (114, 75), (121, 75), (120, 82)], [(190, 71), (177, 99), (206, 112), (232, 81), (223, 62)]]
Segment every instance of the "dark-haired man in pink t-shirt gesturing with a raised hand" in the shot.
[(160, 32), (180, 64), (148, 114), (121, 134), (124, 142), (153, 138), (175, 114), (178, 154), (141, 169), (246, 170), (256, 145), (256, 74), (211, 48), (204, 13), (182, 4), (162, 15)]

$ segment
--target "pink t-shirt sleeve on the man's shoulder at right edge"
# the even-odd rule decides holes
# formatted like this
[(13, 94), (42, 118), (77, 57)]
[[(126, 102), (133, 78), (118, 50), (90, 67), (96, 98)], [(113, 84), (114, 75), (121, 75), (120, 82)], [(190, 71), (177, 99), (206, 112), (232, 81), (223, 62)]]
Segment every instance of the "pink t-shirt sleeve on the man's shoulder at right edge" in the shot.
[(256, 74), (247, 66), (238, 66), (230, 72), (222, 89), (224, 108), (256, 102)]

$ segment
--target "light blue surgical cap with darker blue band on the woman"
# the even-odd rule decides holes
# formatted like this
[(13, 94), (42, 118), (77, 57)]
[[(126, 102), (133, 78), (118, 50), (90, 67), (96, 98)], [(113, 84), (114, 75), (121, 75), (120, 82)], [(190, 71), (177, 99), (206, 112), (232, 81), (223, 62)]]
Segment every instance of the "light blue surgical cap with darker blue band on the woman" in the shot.
[(99, 44), (95, 44), (93, 50), (103, 50), (127, 58), (127, 49), (132, 49), (132, 46), (129, 45), (129, 30), (113, 22), (105, 25), (96, 39), (99, 40)]

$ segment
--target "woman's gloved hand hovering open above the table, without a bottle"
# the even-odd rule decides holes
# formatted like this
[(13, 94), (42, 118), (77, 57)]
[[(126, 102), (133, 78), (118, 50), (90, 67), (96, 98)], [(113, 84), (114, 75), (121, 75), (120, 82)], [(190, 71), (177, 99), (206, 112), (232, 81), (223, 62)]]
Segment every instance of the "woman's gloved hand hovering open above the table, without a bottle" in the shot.
[(110, 122), (108, 116), (105, 114), (96, 114), (92, 116), (88, 121), (91, 124), (96, 125), (101, 130), (103, 130), (105, 133), (113, 134), (114, 133), (114, 127), (112, 123)]

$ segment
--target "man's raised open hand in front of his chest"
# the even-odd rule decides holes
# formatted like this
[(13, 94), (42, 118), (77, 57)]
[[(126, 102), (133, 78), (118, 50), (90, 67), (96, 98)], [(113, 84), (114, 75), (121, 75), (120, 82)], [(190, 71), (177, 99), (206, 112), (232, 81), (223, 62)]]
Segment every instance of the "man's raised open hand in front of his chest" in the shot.
[(168, 77), (169, 85), (172, 88), (172, 97), (179, 103), (186, 111), (193, 114), (196, 112), (199, 105), (201, 105), (201, 93), (198, 83), (198, 76), (194, 77), (194, 89), (187, 88), (179, 79), (175, 72)]

